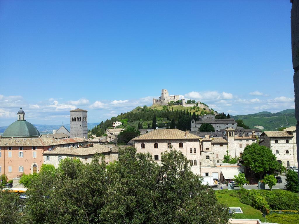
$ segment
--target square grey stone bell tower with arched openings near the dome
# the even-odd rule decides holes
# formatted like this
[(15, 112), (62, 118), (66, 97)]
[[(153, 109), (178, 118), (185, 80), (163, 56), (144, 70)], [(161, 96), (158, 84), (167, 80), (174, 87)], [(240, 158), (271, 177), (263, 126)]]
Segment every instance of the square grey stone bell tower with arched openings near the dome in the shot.
[(87, 111), (75, 109), (70, 111), (71, 138), (81, 137), (87, 139)]

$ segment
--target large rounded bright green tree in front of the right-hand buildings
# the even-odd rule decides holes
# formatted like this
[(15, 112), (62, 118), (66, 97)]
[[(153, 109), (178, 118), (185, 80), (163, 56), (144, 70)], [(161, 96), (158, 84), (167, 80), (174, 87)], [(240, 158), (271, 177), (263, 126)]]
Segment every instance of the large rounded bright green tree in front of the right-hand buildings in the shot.
[(271, 149), (257, 143), (244, 148), (242, 159), (246, 167), (259, 174), (260, 180), (267, 172), (273, 172), (278, 163)]

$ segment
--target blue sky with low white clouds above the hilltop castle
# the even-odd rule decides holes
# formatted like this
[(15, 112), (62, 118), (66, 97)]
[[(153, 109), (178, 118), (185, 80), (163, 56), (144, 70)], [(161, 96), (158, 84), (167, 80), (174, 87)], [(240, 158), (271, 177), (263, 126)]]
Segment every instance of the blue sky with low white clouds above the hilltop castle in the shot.
[(0, 126), (100, 122), (170, 94), (231, 115), (294, 108), (291, 3), (0, 1)]

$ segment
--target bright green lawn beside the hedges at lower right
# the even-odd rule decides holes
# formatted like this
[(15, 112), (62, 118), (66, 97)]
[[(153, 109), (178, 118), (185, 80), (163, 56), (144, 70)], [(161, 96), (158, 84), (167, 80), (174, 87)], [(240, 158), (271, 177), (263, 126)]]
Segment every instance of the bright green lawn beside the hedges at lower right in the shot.
[[(240, 202), (239, 198), (232, 197), (228, 194), (220, 194), (216, 191), (216, 197), (219, 202), (226, 204), (228, 207), (240, 207), (243, 214), (235, 214), (235, 219), (259, 219), (265, 222), (265, 218), (262, 213), (251, 207)], [(294, 214), (269, 214), (266, 216), (267, 222), (281, 223), (281, 224), (299, 224), (299, 215)]]

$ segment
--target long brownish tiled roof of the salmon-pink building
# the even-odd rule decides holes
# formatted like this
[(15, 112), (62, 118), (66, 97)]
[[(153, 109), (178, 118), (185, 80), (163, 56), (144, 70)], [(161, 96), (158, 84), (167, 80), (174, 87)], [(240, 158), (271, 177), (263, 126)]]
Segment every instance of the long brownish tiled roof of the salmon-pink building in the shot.
[(88, 140), (85, 138), (66, 138), (55, 140), (53, 140), (53, 138), (0, 138), (0, 146), (49, 146), (71, 144), (78, 142), (88, 142)]

